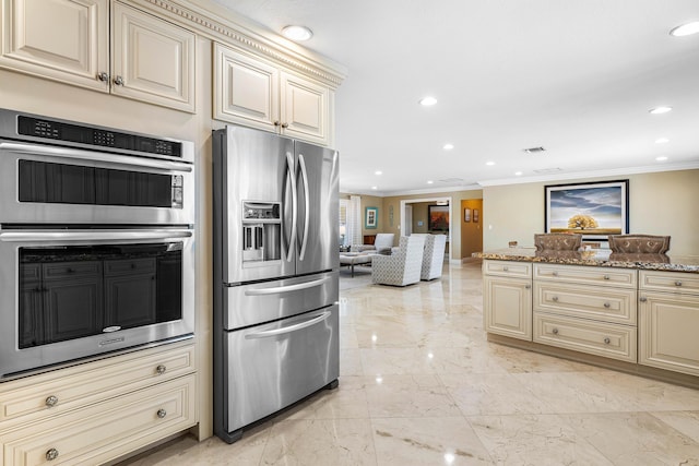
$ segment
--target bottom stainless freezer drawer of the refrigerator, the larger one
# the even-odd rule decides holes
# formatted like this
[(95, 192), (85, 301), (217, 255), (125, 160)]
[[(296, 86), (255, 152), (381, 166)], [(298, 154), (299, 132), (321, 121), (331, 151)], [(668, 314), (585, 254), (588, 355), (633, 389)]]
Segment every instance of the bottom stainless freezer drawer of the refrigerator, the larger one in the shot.
[[(322, 389), (340, 375), (339, 307), (228, 332), (224, 426), (230, 434)], [(226, 386), (227, 385), (227, 386)]]

